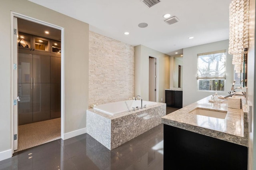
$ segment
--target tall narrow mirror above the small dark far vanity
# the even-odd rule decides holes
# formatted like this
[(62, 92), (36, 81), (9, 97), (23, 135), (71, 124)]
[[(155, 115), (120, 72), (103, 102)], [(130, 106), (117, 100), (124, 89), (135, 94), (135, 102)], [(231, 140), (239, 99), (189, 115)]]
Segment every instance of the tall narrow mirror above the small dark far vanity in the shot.
[[(183, 56), (183, 55), (182, 55)], [(183, 57), (173, 58), (173, 87), (182, 88)]]

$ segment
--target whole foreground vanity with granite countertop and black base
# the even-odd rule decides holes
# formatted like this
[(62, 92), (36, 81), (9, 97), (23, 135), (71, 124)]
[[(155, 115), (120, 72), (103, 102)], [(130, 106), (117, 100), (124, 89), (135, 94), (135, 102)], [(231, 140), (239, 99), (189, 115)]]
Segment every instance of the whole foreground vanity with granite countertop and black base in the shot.
[[(162, 117), (164, 124), (164, 170), (247, 170), (248, 110), (218, 107), (211, 96)], [(206, 113), (226, 112), (226, 116), (192, 114), (197, 108)], [(218, 108), (218, 109), (216, 109)]]

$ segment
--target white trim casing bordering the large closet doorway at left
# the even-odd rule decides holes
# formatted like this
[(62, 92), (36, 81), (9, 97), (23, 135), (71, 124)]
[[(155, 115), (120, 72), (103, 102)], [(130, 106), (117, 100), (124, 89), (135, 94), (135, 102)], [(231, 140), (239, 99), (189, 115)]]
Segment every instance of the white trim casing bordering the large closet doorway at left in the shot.
[[(41, 25), (45, 25), (48, 27), (52, 27), (58, 30), (61, 30), (61, 138), (64, 139), (64, 28), (60, 27), (60, 26), (56, 26), (54, 24), (50, 24), (41, 20), (37, 20), (35, 18), (31, 18), (29, 16), (25, 16), (16, 12), (11, 11), (11, 32), (13, 32), (14, 29), (14, 17), (16, 18), (22, 18), (24, 20), (28, 20), (31, 22), (35, 22)], [(14, 54), (14, 34), (11, 34), (11, 68), (13, 67), (14, 64), (14, 57), (17, 57), (17, 55), (15, 56)], [(17, 63), (18, 64), (18, 63)], [(13, 100), (16, 98), (14, 96), (14, 70), (11, 69), (11, 106), (13, 106)], [(11, 107), (11, 133), (12, 133), (12, 137), (11, 137), (11, 147), (12, 147), (12, 154), (14, 153), (14, 107)], [(18, 126), (18, 125), (17, 125)]]

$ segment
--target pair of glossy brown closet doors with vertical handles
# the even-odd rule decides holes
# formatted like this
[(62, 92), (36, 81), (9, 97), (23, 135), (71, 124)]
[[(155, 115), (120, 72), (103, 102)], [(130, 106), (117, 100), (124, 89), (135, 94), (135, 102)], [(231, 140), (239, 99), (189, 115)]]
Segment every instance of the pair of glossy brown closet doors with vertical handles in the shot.
[(19, 124), (50, 119), (50, 56), (19, 53)]

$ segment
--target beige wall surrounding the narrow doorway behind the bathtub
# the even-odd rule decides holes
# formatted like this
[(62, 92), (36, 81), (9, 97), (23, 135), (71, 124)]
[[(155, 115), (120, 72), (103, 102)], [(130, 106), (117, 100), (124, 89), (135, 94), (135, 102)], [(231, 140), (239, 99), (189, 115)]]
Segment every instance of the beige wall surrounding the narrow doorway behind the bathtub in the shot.
[(165, 89), (170, 88), (170, 56), (144, 45), (135, 47), (134, 95), (148, 100), (149, 56), (158, 58), (158, 102), (165, 103)]

